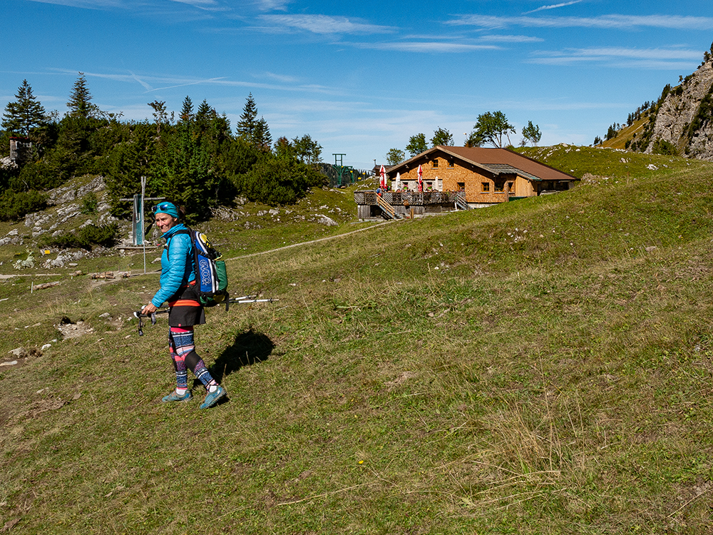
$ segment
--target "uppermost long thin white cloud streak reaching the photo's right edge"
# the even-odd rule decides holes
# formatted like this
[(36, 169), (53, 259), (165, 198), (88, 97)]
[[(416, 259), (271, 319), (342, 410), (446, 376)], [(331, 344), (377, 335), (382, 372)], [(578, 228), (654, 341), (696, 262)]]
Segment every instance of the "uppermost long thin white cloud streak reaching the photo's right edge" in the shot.
[(532, 16), (489, 16), (462, 15), (445, 24), (451, 26), (477, 26), (483, 29), (506, 29), (511, 26), (527, 28), (597, 28), (597, 29), (638, 29), (667, 28), (679, 30), (710, 30), (713, 18), (705, 16), (674, 15), (602, 15), (596, 17), (532, 17)]

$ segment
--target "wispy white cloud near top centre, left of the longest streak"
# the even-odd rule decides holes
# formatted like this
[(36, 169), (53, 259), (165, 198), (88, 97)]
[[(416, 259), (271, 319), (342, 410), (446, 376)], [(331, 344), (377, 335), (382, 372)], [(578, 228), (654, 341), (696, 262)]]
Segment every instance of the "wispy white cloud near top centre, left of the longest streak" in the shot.
[(260, 20), (267, 24), (265, 31), (309, 31), (312, 34), (381, 34), (395, 31), (391, 26), (379, 26), (348, 19), (344, 16), (328, 15), (262, 15)]

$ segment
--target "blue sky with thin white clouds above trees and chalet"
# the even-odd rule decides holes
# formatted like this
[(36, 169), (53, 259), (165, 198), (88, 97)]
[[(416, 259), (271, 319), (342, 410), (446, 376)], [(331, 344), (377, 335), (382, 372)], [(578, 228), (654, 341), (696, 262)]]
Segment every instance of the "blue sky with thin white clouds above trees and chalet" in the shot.
[(78, 72), (127, 120), (204, 99), (235, 126), (248, 93), (273, 140), (309, 133), (324, 161), (371, 168), (409, 137), (462, 145), (503, 111), (540, 145), (589, 145), (701, 63), (710, 0), (11, 0), (0, 107), (26, 78), (66, 111)]

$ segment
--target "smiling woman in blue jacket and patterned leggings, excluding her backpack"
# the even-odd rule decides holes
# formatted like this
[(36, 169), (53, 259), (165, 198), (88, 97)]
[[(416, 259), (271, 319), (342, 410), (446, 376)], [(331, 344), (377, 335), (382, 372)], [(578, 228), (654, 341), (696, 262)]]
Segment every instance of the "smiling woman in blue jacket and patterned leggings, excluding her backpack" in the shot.
[(168, 348), (176, 374), (176, 389), (162, 402), (184, 402), (191, 397), (188, 371), (200, 379), (206, 389), (201, 409), (215, 405), (225, 396), (225, 388), (213, 379), (205, 363), (195, 352), (193, 326), (205, 323), (205, 313), (195, 290), (195, 260), (188, 228), (180, 223), (183, 208), (165, 201), (153, 207), (155, 223), (166, 240), (161, 255), (161, 287), (142, 312), (150, 315), (168, 302)]

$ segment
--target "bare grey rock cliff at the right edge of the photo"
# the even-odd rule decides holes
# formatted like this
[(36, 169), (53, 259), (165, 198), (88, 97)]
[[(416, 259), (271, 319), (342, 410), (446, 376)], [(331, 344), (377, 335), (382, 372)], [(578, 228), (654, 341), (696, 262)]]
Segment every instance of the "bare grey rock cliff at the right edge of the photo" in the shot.
[(666, 143), (680, 156), (713, 160), (713, 58), (660, 103), (645, 152), (660, 152)]

